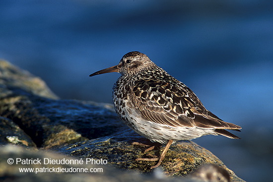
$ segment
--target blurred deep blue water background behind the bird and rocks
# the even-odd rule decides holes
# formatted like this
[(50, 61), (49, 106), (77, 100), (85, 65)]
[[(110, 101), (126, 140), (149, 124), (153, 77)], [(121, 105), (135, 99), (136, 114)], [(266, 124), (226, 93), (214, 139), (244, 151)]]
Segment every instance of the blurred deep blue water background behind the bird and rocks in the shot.
[(119, 73), (89, 77), (130, 51), (243, 127), (194, 140), (248, 182), (273, 172), (272, 0), (0, 0), (0, 58), (63, 99), (112, 102)]

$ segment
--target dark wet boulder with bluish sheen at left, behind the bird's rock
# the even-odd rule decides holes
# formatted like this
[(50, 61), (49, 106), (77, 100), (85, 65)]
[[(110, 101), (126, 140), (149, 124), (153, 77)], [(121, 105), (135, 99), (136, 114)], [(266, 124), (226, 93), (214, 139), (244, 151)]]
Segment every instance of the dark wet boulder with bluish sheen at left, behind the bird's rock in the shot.
[[(22, 75), (20, 69), (3, 61), (0, 71), (0, 116), (14, 121), (38, 147), (71, 144), (126, 128), (116, 114), (107, 109), (108, 105), (57, 100), (50, 94), (44, 97), (44, 93), (51, 91), (45, 84), (39, 84), (43, 83), (39, 78), (31, 78), (27, 72)], [(27, 84), (21, 86), (23, 81), (17, 80), (18, 77), (27, 79)], [(39, 86), (35, 87), (35, 83)]]

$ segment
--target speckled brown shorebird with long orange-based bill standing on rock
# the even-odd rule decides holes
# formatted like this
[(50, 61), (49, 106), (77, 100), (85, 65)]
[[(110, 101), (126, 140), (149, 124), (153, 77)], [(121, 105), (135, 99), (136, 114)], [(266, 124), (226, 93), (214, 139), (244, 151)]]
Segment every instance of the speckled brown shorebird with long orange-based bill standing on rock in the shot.
[[(157, 66), (145, 54), (129, 52), (117, 65), (89, 76), (109, 72), (121, 74), (112, 92), (114, 108), (119, 118), (150, 141), (166, 144), (160, 156), (136, 159), (158, 161), (151, 169), (161, 164), (173, 142), (203, 135), (239, 139), (226, 129), (240, 131), (241, 126), (225, 122), (206, 110), (190, 88)], [(149, 147), (145, 152), (155, 146)]]

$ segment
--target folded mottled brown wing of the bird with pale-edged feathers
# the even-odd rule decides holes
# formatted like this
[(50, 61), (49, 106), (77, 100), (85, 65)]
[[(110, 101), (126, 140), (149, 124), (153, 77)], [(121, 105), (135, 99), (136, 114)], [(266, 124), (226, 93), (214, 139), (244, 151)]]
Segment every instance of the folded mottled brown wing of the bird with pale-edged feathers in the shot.
[(161, 80), (135, 82), (131, 100), (147, 121), (176, 127), (241, 128), (206, 111), (198, 97), (181, 82), (179, 85)]

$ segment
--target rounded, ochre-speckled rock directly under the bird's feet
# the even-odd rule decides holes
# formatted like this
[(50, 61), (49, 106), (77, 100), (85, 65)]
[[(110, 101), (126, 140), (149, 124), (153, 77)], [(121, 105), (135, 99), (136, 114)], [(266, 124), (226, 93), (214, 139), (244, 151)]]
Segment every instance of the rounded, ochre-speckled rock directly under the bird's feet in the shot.
[[(76, 144), (59, 148), (63, 154), (78, 158), (94, 158), (107, 160), (108, 163), (118, 166), (122, 169), (132, 169), (141, 173), (151, 173), (151, 166), (156, 162), (135, 161), (136, 158), (143, 158), (143, 146), (135, 146), (131, 143), (140, 141), (149, 143), (142, 136), (136, 134), (133, 130), (126, 130), (123, 133), (116, 133), (110, 136), (97, 139), (78, 142)], [(157, 151), (147, 153), (157, 154)], [(162, 149), (161, 149), (162, 152)], [(205, 148), (192, 141), (180, 141), (172, 144), (168, 150), (165, 159), (162, 161), (161, 168), (166, 176), (185, 176), (202, 164), (214, 164), (222, 167), (230, 175), (232, 182), (243, 182), (234, 172), (229, 170), (216, 156)]]

